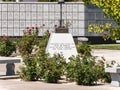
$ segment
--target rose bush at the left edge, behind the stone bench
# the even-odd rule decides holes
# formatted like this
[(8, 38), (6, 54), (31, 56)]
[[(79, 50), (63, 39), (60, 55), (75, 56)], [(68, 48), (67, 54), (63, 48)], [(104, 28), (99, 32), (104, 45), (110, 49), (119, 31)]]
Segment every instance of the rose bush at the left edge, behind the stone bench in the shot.
[(0, 55), (10, 56), (14, 51), (16, 51), (14, 41), (10, 40), (7, 36), (3, 36), (0, 42)]

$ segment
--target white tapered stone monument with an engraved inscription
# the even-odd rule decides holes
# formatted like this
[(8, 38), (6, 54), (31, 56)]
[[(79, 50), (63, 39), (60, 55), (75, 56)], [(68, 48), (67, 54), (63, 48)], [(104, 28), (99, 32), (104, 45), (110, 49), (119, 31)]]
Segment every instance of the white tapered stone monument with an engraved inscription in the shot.
[(48, 41), (46, 52), (51, 56), (58, 53), (62, 54), (66, 62), (69, 62), (69, 57), (78, 54), (73, 37), (69, 33), (52, 33)]

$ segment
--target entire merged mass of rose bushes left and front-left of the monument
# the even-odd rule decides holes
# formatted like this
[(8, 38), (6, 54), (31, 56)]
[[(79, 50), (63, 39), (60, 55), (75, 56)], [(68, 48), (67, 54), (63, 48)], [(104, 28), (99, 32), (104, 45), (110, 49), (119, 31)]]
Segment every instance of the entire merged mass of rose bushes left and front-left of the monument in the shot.
[[(65, 72), (65, 59), (60, 55), (50, 57), (46, 54), (46, 46), (50, 36), (47, 31), (38, 42), (38, 30), (28, 29), (19, 43), (19, 50), (23, 57), (24, 67), (18, 72), (23, 80), (35, 81), (44, 79), (49, 83), (57, 83)], [(37, 51), (35, 50), (37, 47)], [(34, 51), (34, 52), (33, 52)]]

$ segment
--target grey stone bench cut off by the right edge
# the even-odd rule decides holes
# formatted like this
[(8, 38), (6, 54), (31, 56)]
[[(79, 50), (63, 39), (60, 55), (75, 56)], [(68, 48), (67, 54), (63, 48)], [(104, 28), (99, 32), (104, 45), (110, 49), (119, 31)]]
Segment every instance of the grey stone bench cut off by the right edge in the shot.
[(112, 86), (120, 86), (120, 67), (109, 67), (105, 68), (105, 72), (109, 72), (111, 74), (111, 85)]

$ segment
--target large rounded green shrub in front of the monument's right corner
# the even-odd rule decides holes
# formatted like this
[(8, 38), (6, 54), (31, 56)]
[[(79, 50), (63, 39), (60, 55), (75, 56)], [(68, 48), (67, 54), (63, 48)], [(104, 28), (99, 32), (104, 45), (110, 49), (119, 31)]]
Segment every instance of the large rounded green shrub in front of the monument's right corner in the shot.
[[(97, 65), (95, 64), (95, 59), (83, 58), (82, 56), (71, 57), (72, 61), (70, 64), (74, 64), (73, 67), (68, 67), (68, 70), (74, 68), (73, 76), (74, 80), (78, 85), (93, 85), (98, 80)], [(69, 72), (67, 73), (69, 74)]]

